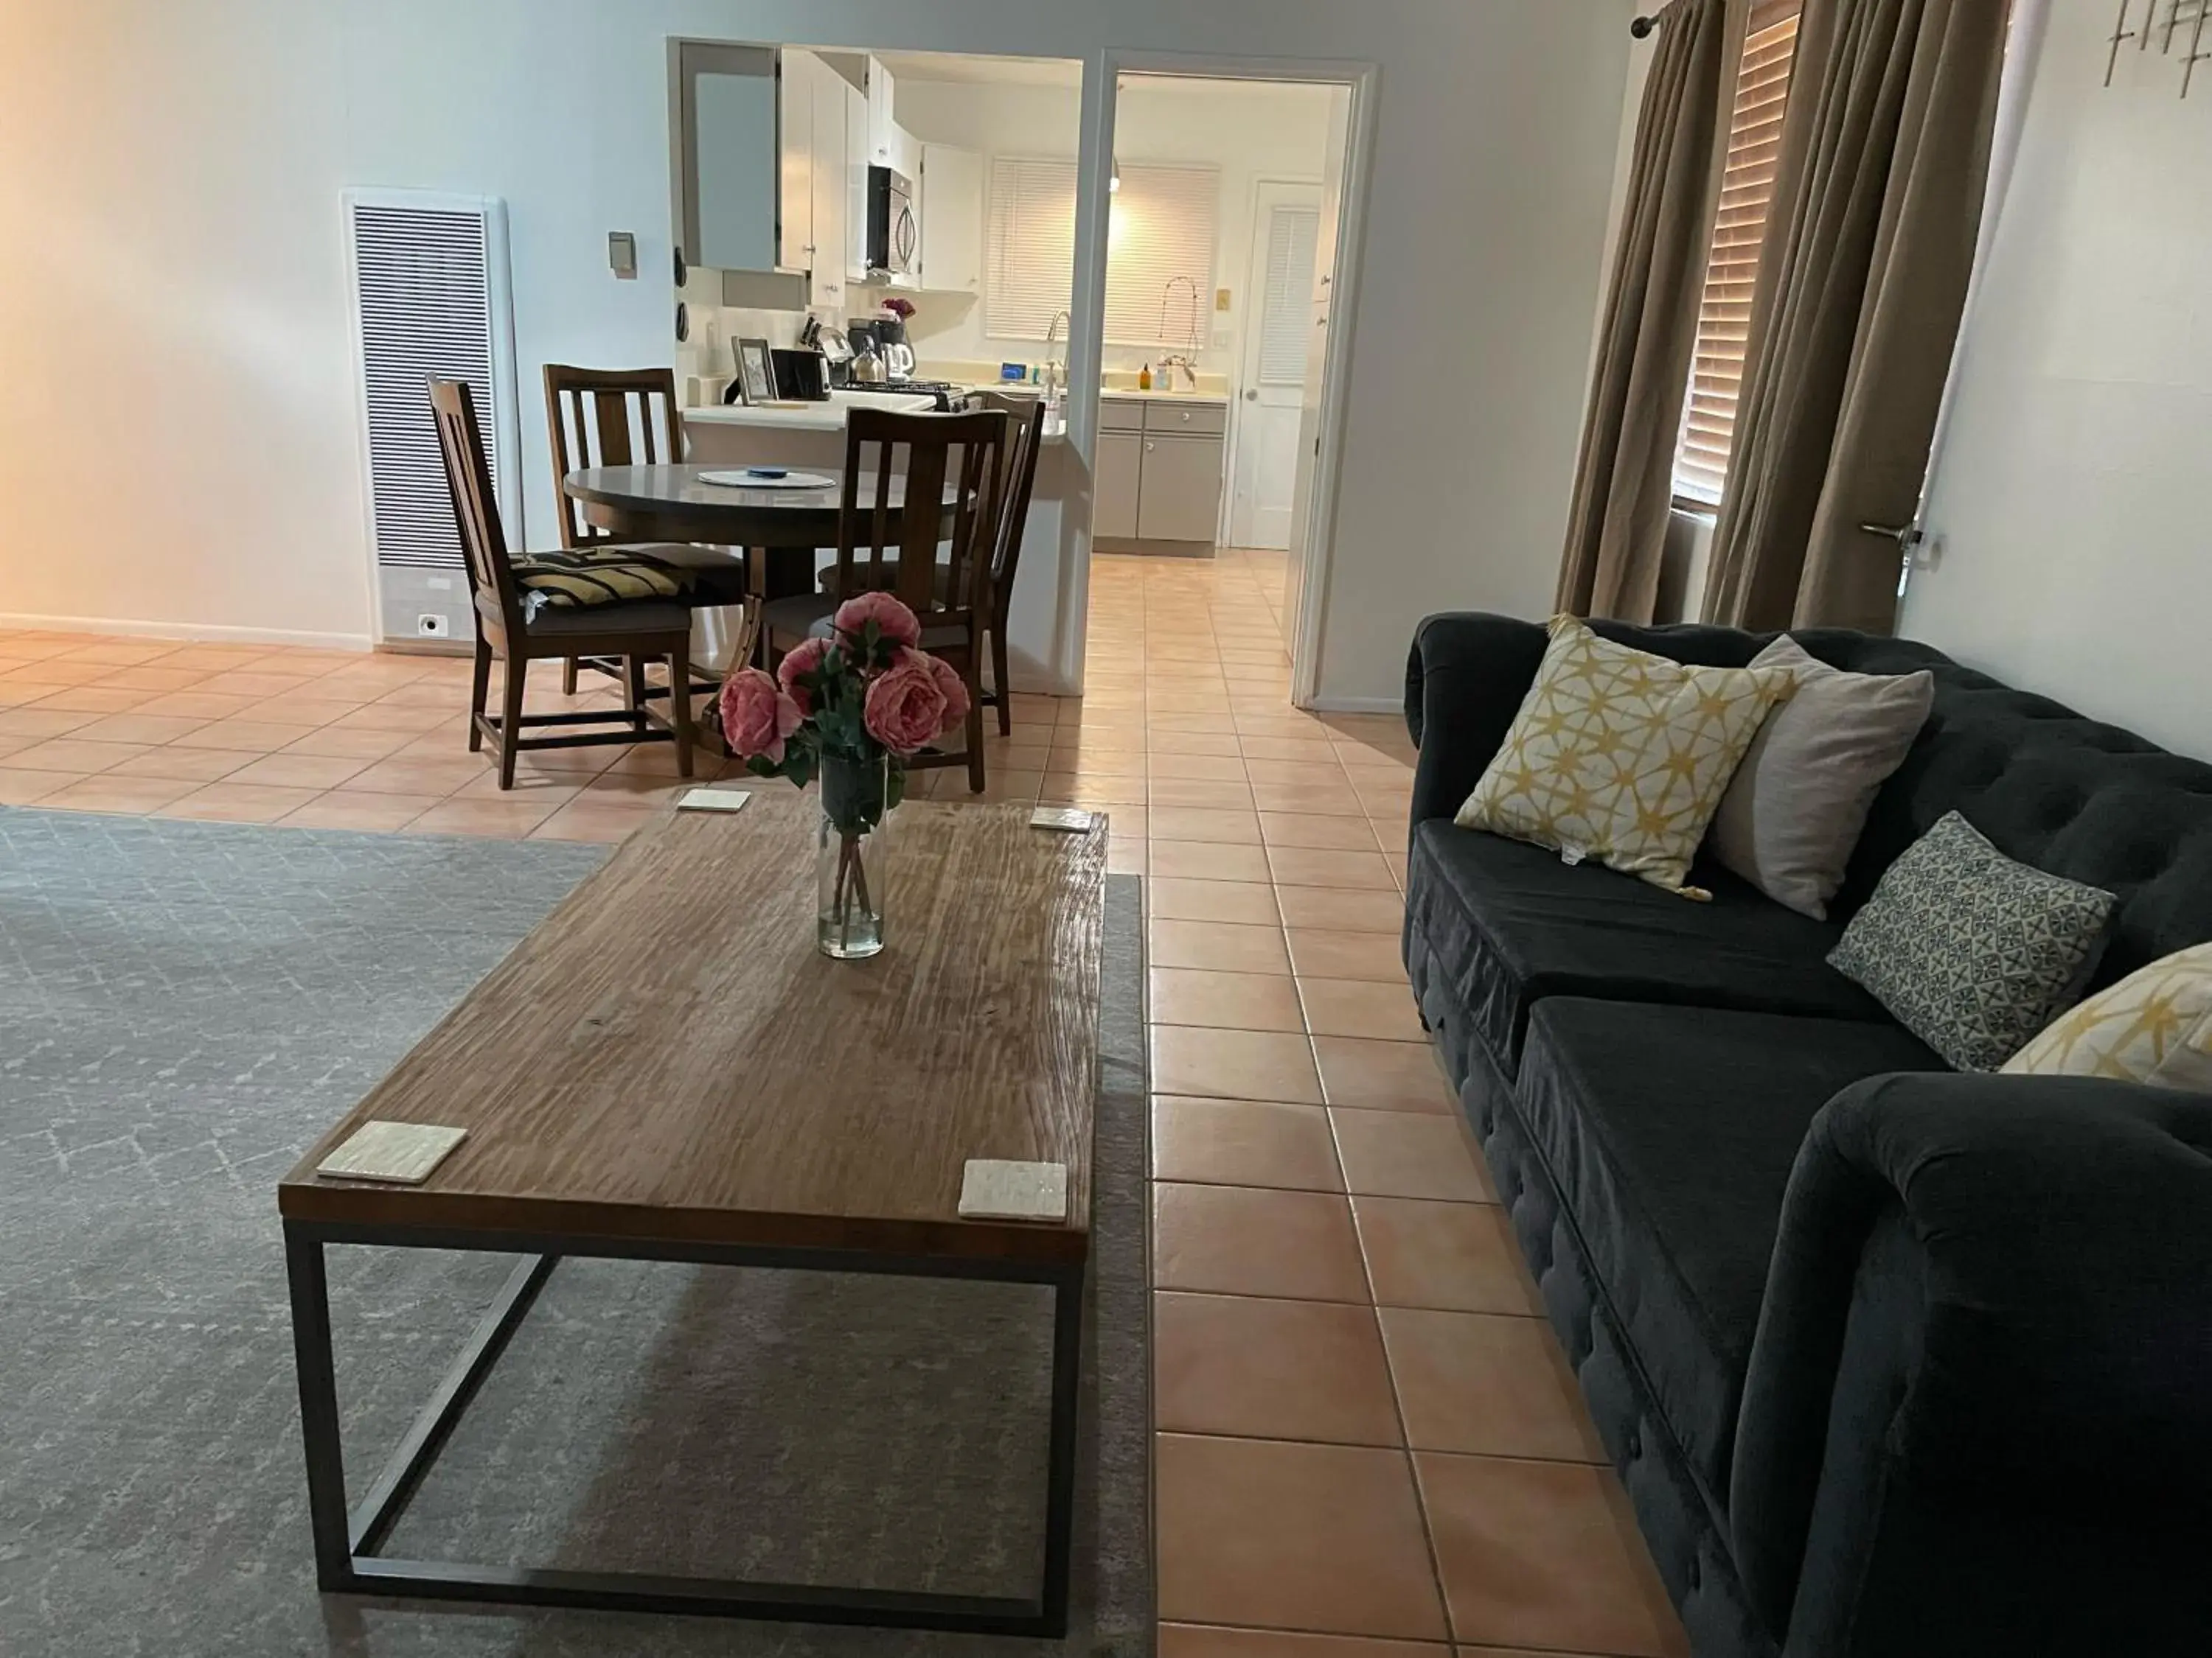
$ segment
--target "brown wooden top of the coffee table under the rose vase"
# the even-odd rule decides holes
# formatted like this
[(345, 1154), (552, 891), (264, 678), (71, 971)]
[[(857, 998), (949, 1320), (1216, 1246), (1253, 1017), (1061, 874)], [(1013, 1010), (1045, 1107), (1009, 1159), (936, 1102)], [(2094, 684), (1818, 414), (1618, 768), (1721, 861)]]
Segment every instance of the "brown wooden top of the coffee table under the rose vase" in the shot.
[[(646, 825), (279, 1187), (288, 1220), (1082, 1260), (1104, 820), (916, 800), (889, 942), (814, 948), (812, 794)], [(314, 1165), (363, 1121), (469, 1130), (425, 1185)], [(1068, 1220), (962, 1220), (969, 1158), (1064, 1163)]]

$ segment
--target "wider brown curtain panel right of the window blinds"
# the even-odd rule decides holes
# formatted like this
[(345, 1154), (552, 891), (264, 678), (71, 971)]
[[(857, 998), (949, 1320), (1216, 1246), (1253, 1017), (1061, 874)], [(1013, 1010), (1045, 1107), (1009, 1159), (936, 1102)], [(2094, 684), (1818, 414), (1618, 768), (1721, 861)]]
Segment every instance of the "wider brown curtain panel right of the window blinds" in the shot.
[(2002, 0), (1805, 0), (1703, 612), (1896, 626), (1973, 272)]

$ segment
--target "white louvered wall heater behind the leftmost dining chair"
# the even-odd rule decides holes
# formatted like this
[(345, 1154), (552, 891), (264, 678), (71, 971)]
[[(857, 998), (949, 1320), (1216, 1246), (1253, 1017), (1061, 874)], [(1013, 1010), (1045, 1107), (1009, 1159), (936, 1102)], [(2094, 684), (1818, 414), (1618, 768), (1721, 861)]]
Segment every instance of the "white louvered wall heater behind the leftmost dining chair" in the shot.
[(369, 522), (383, 568), (462, 568), (429, 380), (476, 391), (500, 517), (520, 546), (504, 210), (495, 201), (349, 192)]

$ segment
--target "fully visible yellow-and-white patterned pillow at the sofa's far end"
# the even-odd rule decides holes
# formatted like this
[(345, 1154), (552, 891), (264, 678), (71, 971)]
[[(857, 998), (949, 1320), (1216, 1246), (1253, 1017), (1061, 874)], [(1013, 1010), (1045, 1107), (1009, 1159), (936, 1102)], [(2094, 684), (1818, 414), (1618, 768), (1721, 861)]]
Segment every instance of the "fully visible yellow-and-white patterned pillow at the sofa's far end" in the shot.
[(1504, 747), (1455, 822), (1683, 886), (1728, 780), (1787, 668), (1686, 668), (1553, 617), (1551, 643)]

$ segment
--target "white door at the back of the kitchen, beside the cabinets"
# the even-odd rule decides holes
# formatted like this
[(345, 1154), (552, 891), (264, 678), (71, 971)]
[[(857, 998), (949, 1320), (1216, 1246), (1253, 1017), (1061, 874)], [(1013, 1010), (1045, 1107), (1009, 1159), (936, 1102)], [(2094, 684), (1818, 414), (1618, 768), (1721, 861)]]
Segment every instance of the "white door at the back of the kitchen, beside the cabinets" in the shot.
[(1245, 274), (1230, 546), (1290, 546), (1318, 239), (1321, 186), (1261, 181), (1252, 208), (1252, 267)]

